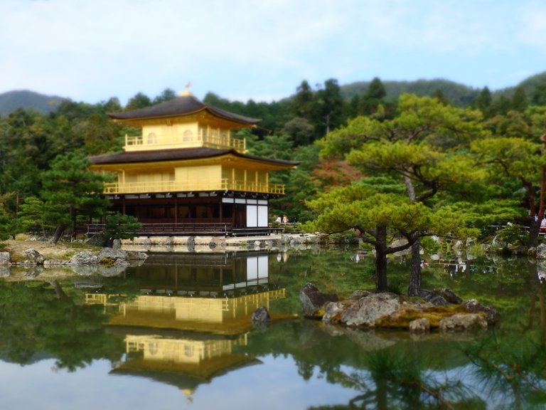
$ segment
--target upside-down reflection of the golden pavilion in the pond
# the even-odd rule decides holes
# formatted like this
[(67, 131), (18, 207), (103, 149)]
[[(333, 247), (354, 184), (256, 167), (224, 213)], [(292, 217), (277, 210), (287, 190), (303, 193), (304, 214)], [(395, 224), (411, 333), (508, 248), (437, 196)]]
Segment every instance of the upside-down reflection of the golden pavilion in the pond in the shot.
[(247, 344), (252, 313), (284, 298), (284, 288), (269, 282), (267, 253), (153, 255), (129, 275), (140, 284), (136, 298), (86, 295), (86, 303), (105, 306), (109, 329), (125, 335), (127, 354), (112, 373), (150, 377), (191, 396), (215, 375), (259, 363), (234, 348)]

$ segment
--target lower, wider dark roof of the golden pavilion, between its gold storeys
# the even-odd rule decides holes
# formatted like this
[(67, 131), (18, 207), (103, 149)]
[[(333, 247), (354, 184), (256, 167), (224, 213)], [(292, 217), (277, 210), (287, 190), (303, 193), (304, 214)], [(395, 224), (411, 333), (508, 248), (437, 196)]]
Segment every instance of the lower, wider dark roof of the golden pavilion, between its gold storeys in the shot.
[(241, 154), (235, 149), (213, 149), (213, 148), (178, 148), (178, 149), (156, 149), (153, 151), (129, 151), (118, 152), (116, 154), (96, 155), (89, 157), (93, 164), (128, 164), (134, 162), (161, 162), (161, 161), (179, 161), (184, 159), (205, 159), (221, 157), (226, 154), (232, 154), (236, 157), (252, 159), (269, 164), (285, 165), (294, 167), (299, 162), (284, 161), (282, 159), (269, 159), (254, 157), (252, 155)]

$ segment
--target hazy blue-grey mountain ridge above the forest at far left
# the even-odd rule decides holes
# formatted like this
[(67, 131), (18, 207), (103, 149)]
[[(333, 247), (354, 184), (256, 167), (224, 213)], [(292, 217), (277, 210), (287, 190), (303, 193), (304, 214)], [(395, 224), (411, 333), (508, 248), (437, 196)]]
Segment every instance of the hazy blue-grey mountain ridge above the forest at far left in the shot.
[(11, 112), (23, 108), (36, 110), (42, 114), (55, 111), (63, 100), (68, 98), (58, 95), (43, 95), (28, 90), (15, 90), (0, 94), (0, 115), (6, 116)]

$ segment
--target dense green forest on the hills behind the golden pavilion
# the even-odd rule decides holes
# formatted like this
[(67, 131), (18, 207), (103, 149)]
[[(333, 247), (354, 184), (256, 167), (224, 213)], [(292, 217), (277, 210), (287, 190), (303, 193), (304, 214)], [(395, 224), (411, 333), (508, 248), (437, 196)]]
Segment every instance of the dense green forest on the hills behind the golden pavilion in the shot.
[[(398, 188), (385, 186), (400, 183), (403, 188), (403, 181), (397, 179), (397, 175), (407, 171), (400, 169), (380, 171), (375, 169), (375, 166), (370, 168), (369, 164), (351, 162), (346, 155), (350, 153), (349, 148), (368, 147), (367, 141), (397, 140), (398, 137), (389, 137), (385, 132), (395, 132), (400, 128), (400, 120), (407, 115), (401, 108), (402, 98), (406, 95), (417, 97), (414, 102), (415, 110), (417, 105), (428, 101), (427, 99), (439, 104), (440, 108), (434, 109), (441, 111), (441, 107), (444, 107), (448, 111), (455, 110), (451, 113), (437, 112), (439, 117), (454, 115), (457, 118), (456, 124), (450, 126), (451, 129), (439, 127), (435, 123), (439, 117), (427, 118), (428, 124), (420, 124), (420, 127), (429, 130), (423, 133), (423, 137), (415, 139), (419, 144), (427, 143), (429, 144), (427, 147), (449, 155), (454, 155), (454, 152), (465, 152), (467, 156), (473, 155), (474, 161), (478, 161), (478, 157), (485, 154), (472, 153), (471, 141), (486, 137), (520, 139), (535, 144), (530, 149), (538, 147), (540, 151), (540, 135), (545, 132), (546, 127), (541, 128), (540, 120), (537, 119), (540, 114), (536, 111), (546, 102), (546, 73), (529, 78), (511, 90), (495, 93), (488, 88), (474, 90), (445, 80), (386, 84), (379, 78), (374, 78), (368, 83), (355, 83), (343, 87), (333, 78), (314, 86), (304, 80), (295, 88), (293, 95), (277, 102), (230, 101), (214, 93), (208, 93), (203, 100), (216, 107), (262, 119), (257, 129), (241, 132), (241, 136), (247, 139), (250, 154), (300, 162), (298, 169), (279, 172), (272, 180), (287, 186), (287, 195), (274, 202), (272, 214), (286, 212), (296, 221), (316, 218), (317, 210), (309, 207), (309, 201), (316, 199), (319, 193), (334, 186), (347, 186), (359, 182), (364, 176), (368, 182), (376, 179), (381, 181), (376, 184), (376, 189), (380, 186), (381, 189), (396, 191)], [(134, 110), (175, 97), (176, 93), (168, 88), (155, 97), (137, 93), (124, 107), (117, 98), (110, 98), (97, 104), (54, 99), (55, 104), (49, 103), (48, 107), (55, 109), (48, 112), (38, 108), (18, 108), (9, 114), (0, 115), (1, 231), (16, 233), (30, 229), (49, 232), (63, 221), (60, 214), (70, 214), (70, 220), (64, 220), (68, 226), (82, 216), (86, 218), (97, 216), (93, 210), (97, 204), (91, 202), (72, 204), (70, 209), (50, 209), (56, 198), (55, 193), (58, 194), (60, 189), (68, 189), (51, 184), (51, 179), (58, 179), (58, 172), (62, 173), (63, 170), (70, 168), (68, 154), (73, 155), (73, 162), (78, 160), (81, 165), (86, 155), (122, 149), (122, 136), (127, 130), (122, 130), (119, 125), (110, 122), (107, 112)], [(373, 122), (370, 130), (350, 130), (355, 120), (363, 118)], [(424, 116), (421, 115), (417, 120), (424, 120)], [(468, 135), (464, 137), (466, 139), (464, 141), (461, 140), (462, 137), (458, 140), (451, 135), (459, 125), (470, 127), (468, 122), (479, 130), (466, 132)], [(392, 128), (380, 130), (387, 125)], [(407, 132), (410, 132), (410, 125), (402, 127), (407, 127)], [(343, 142), (346, 151), (333, 149), (328, 152), (328, 149), (325, 149), (325, 141), (328, 141), (328, 136), (336, 135), (336, 132), (341, 130), (350, 134), (350, 137), (346, 138), (351, 142)], [(375, 132), (377, 138), (372, 136), (364, 138), (363, 135), (359, 135), (362, 132)], [(420, 131), (414, 129), (414, 132)], [(407, 135), (402, 135), (400, 140), (405, 138), (407, 139)], [(422, 150), (421, 147), (419, 149)], [(490, 159), (488, 167), (493, 167), (493, 163), (499, 160)], [(540, 168), (537, 163), (535, 166)], [(60, 170), (56, 171), (57, 174), (55, 167), (60, 167)], [(75, 167), (77, 169), (77, 164)], [(503, 184), (496, 181), (495, 185), (498, 185), (498, 188), (492, 189), (490, 183), (488, 194), (491, 191), (491, 195), (497, 199), (517, 199), (520, 210), (528, 210), (529, 195), (532, 191), (534, 202), (531, 206), (535, 208), (538, 206), (537, 189), (540, 188), (540, 181), (535, 174), (540, 174), (540, 169), (529, 171), (530, 174), (525, 176), (529, 177), (529, 182), (523, 182), (525, 177), (518, 172), (508, 172), (506, 169), (500, 171), (505, 173)], [(389, 182), (385, 182), (385, 179)], [(531, 191), (529, 184), (532, 184)], [(451, 188), (454, 186), (458, 186), (458, 182), (454, 181), (451, 184)], [(434, 196), (434, 199), (428, 200), (455, 203), (456, 194), (447, 191), (441, 198)], [(483, 194), (478, 196), (485, 199)], [(538, 212), (538, 209), (534, 212)], [(513, 214), (513, 212), (510, 214), (510, 218), (513, 218)]]

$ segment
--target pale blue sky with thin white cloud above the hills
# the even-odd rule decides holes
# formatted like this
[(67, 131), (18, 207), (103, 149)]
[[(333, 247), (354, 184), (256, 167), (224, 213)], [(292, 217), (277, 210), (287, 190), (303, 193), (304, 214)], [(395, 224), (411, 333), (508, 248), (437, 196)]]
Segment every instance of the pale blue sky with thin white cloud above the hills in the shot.
[(546, 0), (1, 0), (0, 93), (246, 102), (328, 78), (491, 90), (546, 71)]

